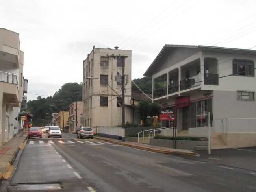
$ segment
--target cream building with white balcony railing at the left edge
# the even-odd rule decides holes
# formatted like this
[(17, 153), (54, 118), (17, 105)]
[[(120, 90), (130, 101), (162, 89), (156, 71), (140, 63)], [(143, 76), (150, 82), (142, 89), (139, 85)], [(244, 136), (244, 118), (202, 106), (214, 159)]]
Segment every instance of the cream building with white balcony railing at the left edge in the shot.
[(20, 128), (18, 113), (23, 97), (23, 58), (19, 33), (0, 28), (0, 144)]

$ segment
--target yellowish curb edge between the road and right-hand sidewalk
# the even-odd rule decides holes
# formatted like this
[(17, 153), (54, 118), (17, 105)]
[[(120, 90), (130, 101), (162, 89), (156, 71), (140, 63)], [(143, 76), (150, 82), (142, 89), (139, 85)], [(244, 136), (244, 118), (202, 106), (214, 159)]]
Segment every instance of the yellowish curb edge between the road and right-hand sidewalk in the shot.
[(181, 151), (156, 150), (156, 149), (152, 149), (152, 148), (148, 148), (148, 147), (136, 146), (136, 145), (128, 144), (128, 143), (124, 143), (124, 142), (108, 140), (107, 138), (106, 139), (105, 138), (99, 138), (97, 136), (95, 136), (94, 138), (104, 140), (104, 141), (107, 141), (107, 142), (111, 142), (111, 143), (115, 143), (115, 144), (119, 144), (119, 145), (122, 145), (122, 146), (132, 147), (132, 148), (136, 148), (136, 149), (139, 149), (139, 150), (151, 151), (151, 152), (155, 152), (155, 153), (189, 155), (189, 156), (198, 156), (199, 155), (199, 154), (194, 153), (194, 152), (186, 153), (186, 152), (181, 152)]

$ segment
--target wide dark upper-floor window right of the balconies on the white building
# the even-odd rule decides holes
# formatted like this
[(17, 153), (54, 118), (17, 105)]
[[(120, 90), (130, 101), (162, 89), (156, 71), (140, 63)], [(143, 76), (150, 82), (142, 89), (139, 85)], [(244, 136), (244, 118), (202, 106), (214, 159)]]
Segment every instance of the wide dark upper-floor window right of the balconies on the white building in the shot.
[(254, 76), (254, 62), (252, 60), (234, 59), (233, 75)]

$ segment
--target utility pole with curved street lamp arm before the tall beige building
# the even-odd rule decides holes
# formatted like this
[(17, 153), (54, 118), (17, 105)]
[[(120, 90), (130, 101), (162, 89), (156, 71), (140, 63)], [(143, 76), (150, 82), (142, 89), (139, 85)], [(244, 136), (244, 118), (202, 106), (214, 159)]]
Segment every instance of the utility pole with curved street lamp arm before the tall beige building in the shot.
[[(106, 83), (106, 85), (108, 85), (120, 98), (122, 98), (122, 129), (125, 130), (125, 108), (124, 108), (124, 104), (125, 104), (125, 101), (124, 101), (124, 67), (122, 68), (122, 96), (119, 95), (114, 89), (113, 87), (111, 87), (107, 81), (105, 81), (104, 79), (101, 79), (101, 78), (95, 78), (95, 77), (87, 77), (86, 79), (91, 79), (91, 80), (94, 80), (94, 79), (100, 79), (102, 81), (104, 81)], [(125, 133), (122, 137), (122, 141), (125, 141)]]

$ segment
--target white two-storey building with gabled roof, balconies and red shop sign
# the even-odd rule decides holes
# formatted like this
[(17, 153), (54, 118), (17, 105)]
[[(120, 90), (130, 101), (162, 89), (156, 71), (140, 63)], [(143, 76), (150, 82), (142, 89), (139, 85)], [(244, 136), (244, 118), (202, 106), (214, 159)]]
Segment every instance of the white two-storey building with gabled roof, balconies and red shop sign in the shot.
[(256, 146), (255, 62), (256, 50), (165, 45), (144, 75), (180, 134), (207, 136), (211, 112), (213, 148)]

